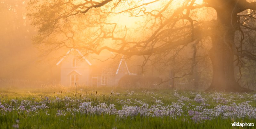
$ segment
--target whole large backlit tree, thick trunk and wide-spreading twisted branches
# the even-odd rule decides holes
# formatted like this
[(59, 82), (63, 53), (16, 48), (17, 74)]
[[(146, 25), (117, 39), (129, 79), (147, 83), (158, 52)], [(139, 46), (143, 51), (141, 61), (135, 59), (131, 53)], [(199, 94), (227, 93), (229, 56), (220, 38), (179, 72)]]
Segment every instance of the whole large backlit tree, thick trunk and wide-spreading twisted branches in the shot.
[[(107, 49), (127, 56), (146, 56), (180, 50), (182, 46), (192, 44), (194, 55), (191, 58), (193, 59), (191, 68), (193, 69), (197, 64), (196, 46), (202, 43), (202, 40), (210, 39), (212, 48), (209, 57), (212, 61), (213, 75), (208, 90), (251, 91), (242, 88), (236, 81), (234, 61), (237, 66), (242, 66), (244, 60), (256, 60), (255, 42), (244, 41), (256, 31), (256, 2), (246, 0), (203, 0), (202, 3), (186, 0), (180, 4), (177, 2), (179, 1), (34, 0), (29, 3), (28, 9), (31, 13), (28, 15), (33, 19), (33, 25), (39, 28), (35, 42), (50, 44), (51, 47), (47, 47), (49, 52), (67, 47), (96, 54)], [(156, 4), (159, 8), (150, 9), (151, 6), (148, 6)], [(200, 13), (200, 10), (213, 11), (204, 14)], [(117, 24), (111, 23), (108, 19), (112, 14), (123, 13), (129, 13), (133, 17), (146, 17), (144, 29), (148, 25), (150, 27), (147, 29), (149, 28), (152, 33), (148, 34), (149, 36), (144, 35), (141, 40), (128, 40), (126, 27), (120, 31)], [(199, 13), (202, 18), (196, 17)], [(208, 15), (212, 15), (213, 18), (207, 19)], [(77, 30), (81, 29), (85, 32), (77, 33)], [(53, 40), (54, 37), (56, 40)], [(86, 37), (86, 40), (81, 44), (82, 39), (76, 37)], [(236, 37), (240, 37), (240, 41), (236, 41)], [(100, 44), (104, 39), (111, 39), (115, 45)]]

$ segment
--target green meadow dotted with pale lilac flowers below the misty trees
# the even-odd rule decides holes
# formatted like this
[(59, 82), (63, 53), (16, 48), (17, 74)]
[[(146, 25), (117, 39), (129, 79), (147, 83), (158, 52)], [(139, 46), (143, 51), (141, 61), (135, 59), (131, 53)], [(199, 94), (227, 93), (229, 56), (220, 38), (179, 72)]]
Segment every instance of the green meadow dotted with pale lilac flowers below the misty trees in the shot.
[[(113, 89), (0, 90), (0, 128), (239, 128), (256, 93)], [(243, 128), (255, 128), (245, 126)]]

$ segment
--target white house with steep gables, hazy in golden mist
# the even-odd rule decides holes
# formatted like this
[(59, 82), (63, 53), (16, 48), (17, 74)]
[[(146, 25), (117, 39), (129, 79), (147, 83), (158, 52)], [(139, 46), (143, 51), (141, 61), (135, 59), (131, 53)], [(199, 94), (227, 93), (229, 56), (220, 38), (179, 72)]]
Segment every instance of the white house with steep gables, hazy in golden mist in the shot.
[(114, 86), (124, 75), (134, 75), (124, 59), (102, 62), (92, 58), (89, 61), (77, 49), (69, 50), (56, 65), (60, 66), (60, 83), (63, 86)]

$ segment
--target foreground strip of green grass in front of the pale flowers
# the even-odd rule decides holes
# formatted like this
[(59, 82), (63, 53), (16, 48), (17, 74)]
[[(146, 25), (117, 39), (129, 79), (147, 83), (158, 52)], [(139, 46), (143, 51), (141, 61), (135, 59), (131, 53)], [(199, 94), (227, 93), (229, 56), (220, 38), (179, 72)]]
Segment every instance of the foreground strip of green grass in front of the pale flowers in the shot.
[[(11, 128), (17, 118), (17, 112), (1, 117), (1, 128)], [(204, 121), (202, 123), (194, 123), (192, 120), (184, 121), (183, 118), (172, 119), (169, 117), (140, 117), (135, 118), (117, 118), (112, 115), (82, 115), (76, 114), (59, 116), (45, 115), (44, 112), (39, 112), (35, 116), (27, 117), (26, 115), (19, 115), (20, 128), (232, 128), (231, 123), (234, 120), (220, 118), (211, 121)], [(247, 123), (255, 123), (255, 120), (245, 119), (236, 120), (237, 122), (246, 121)]]

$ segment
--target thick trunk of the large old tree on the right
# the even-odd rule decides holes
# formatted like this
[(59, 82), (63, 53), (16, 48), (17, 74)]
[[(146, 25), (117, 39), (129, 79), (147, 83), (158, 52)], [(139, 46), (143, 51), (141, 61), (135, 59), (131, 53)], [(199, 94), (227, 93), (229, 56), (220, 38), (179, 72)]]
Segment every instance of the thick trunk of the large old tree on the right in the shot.
[[(217, 25), (212, 32), (212, 48), (210, 58), (212, 61), (212, 83), (208, 90), (247, 92), (236, 82), (234, 75), (234, 37), (236, 14), (231, 18), (232, 9), (217, 11)], [(232, 25), (233, 24), (233, 25)]]

